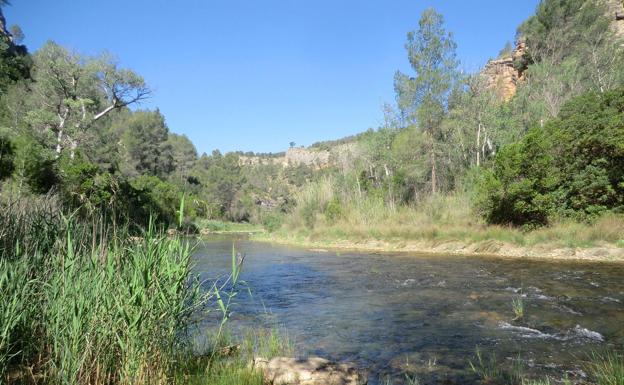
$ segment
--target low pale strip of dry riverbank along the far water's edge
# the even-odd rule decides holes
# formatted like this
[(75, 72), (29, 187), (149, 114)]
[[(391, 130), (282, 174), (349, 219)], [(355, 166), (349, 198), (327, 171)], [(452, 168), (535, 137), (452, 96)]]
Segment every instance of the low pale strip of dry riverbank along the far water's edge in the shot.
[[(599, 224), (598, 227), (602, 225), (604, 224)], [(436, 229), (431, 229), (429, 236), (411, 237), (384, 236), (387, 232), (380, 231), (378, 227), (373, 227), (368, 232), (346, 232), (344, 229), (330, 227), (313, 231), (280, 229), (273, 233), (254, 234), (253, 239), (314, 250), (624, 262), (624, 241), (606, 240), (605, 238), (613, 239), (613, 236), (600, 233), (596, 226), (559, 224), (528, 233), (486, 226), (480, 229), (464, 229), (462, 236), (458, 236), (457, 231), (436, 232)], [(605, 231), (620, 231), (620, 227), (621, 223), (613, 223)], [(568, 232), (564, 236), (566, 231)], [(579, 235), (579, 232), (584, 236)], [(560, 233), (562, 235), (558, 236)], [(620, 235), (624, 238), (624, 232)]]

